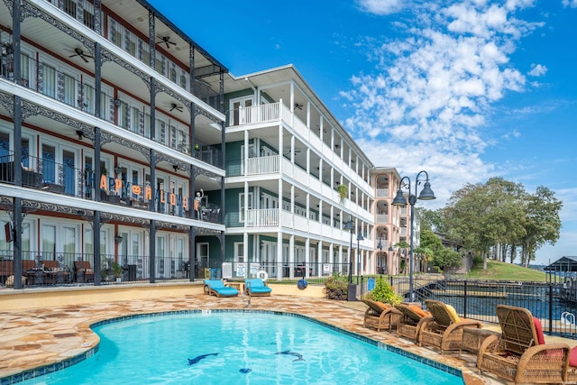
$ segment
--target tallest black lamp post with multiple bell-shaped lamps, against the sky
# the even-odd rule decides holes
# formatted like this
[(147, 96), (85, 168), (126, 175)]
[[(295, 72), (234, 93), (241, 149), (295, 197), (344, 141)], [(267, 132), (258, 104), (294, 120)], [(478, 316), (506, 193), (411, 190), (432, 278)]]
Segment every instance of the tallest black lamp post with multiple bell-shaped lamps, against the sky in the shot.
[[(417, 197), (417, 187), (423, 181), (422, 179), (419, 180), (421, 174), (425, 174), (425, 184), (423, 185), (423, 189), (421, 193)], [(403, 185), (403, 180), (407, 180), (407, 182)], [(410, 241), (410, 248), (408, 252), (408, 298), (409, 302), (415, 301), (415, 296), (413, 293), (413, 242), (415, 238), (415, 228), (413, 225), (414, 218), (415, 218), (415, 204), (417, 203), (417, 199), (421, 200), (433, 200), (435, 199), (435, 193), (431, 189), (431, 184), (429, 183), (429, 174), (425, 170), (420, 171), (417, 174), (417, 178), (415, 179), (415, 194), (411, 194), (411, 179), (408, 177), (403, 177), (398, 182), (398, 191), (397, 197), (393, 199), (392, 205), (393, 206), (407, 206), (407, 199), (403, 194), (402, 188), (408, 188), (408, 204), (411, 206), (411, 241)]]

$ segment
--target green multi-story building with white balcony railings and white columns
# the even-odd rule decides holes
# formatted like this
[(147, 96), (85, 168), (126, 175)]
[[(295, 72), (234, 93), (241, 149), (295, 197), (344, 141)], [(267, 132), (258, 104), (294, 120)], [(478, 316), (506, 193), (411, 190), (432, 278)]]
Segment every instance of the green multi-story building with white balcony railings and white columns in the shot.
[(373, 165), (305, 79), (286, 66), (225, 89), (227, 258), (274, 277), (374, 271)]

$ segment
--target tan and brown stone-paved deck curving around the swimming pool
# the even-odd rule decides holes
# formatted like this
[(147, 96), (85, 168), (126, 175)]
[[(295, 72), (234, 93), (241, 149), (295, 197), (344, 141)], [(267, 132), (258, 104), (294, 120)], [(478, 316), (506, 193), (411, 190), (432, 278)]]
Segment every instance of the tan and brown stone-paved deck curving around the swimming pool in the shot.
[[(238, 298), (215, 298), (185, 295), (162, 299), (137, 299), (122, 302), (35, 308), (0, 312), (0, 379), (42, 365), (66, 360), (87, 352), (98, 344), (89, 325), (118, 316), (179, 311), (185, 309), (246, 309), (248, 303)], [(476, 356), (463, 353), (440, 355), (433, 349), (398, 338), (395, 334), (376, 332), (362, 326), (365, 305), (362, 302), (333, 301), (324, 298), (272, 296), (252, 298), (252, 309), (274, 310), (310, 316), (330, 325), (365, 335), (410, 353), (443, 362), (463, 371), (467, 385), (506, 384), (491, 376), (478, 376)], [(548, 337), (547, 339), (549, 340)], [(563, 340), (567, 342), (566, 340)], [(1, 383), (8, 383), (0, 380)]]

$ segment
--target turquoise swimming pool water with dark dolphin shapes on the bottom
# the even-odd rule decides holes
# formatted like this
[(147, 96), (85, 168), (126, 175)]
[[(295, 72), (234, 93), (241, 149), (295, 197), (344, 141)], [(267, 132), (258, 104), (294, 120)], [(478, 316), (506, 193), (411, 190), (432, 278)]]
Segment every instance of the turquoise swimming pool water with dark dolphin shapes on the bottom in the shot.
[(299, 316), (213, 312), (95, 328), (94, 356), (23, 384), (447, 384), (460, 376)]

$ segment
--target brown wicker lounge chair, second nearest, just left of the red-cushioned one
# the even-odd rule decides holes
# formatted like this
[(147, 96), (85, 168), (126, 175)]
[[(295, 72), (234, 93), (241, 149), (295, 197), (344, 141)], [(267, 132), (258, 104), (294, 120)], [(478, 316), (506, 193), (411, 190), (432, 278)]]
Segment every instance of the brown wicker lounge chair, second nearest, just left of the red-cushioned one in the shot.
[(418, 344), (435, 346), (441, 350), (441, 354), (448, 350), (461, 351), (463, 329), (472, 327), (481, 329), (481, 321), (460, 319), (453, 307), (449, 307), (441, 301), (426, 299), (426, 308), (433, 315), (421, 326), (418, 335)]

